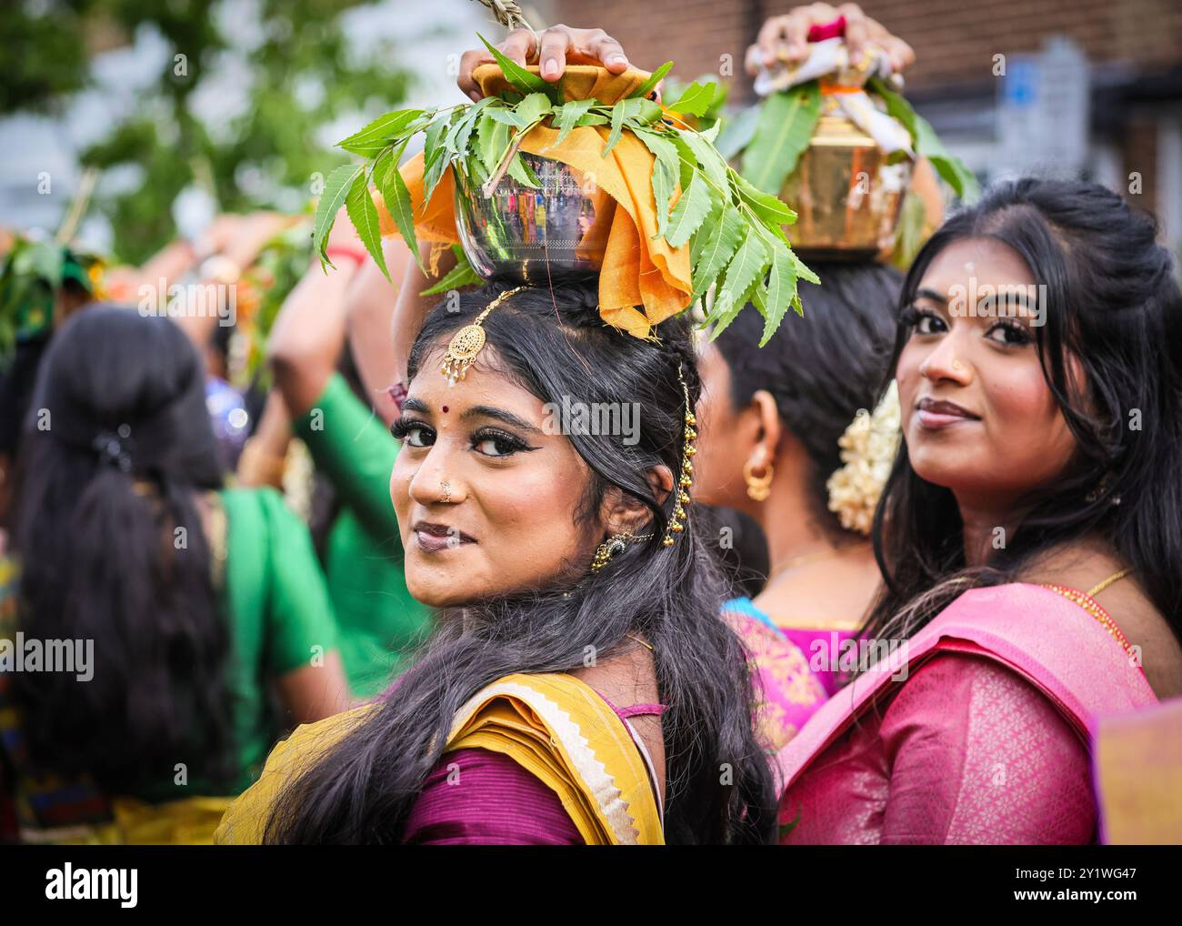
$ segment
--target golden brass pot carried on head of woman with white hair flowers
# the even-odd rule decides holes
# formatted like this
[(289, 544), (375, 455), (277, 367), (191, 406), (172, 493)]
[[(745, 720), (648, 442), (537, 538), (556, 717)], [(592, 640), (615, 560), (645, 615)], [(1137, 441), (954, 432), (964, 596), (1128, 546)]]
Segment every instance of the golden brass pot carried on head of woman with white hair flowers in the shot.
[(780, 199), (794, 251), (814, 259), (872, 260), (890, 252), (911, 162), (886, 163), (875, 140), (840, 114), (823, 115)]

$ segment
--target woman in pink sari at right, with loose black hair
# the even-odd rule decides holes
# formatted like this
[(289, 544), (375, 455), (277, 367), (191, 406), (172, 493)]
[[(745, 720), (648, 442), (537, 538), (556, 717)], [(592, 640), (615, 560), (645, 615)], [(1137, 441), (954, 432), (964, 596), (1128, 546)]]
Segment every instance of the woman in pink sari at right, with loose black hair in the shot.
[(1152, 221), (1021, 180), (903, 287), (859, 674), (779, 753), (786, 843), (1086, 843), (1087, 731), (1182, 693), (1182, 297)]

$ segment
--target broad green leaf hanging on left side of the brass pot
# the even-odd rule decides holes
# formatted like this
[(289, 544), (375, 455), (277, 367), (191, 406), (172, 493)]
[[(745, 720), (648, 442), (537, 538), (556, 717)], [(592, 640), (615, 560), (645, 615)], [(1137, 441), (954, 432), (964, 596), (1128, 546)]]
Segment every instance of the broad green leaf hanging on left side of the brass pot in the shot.
[(819, 118), (816, 80), (765, 97), (755, 136), (743, 151), (743, 177), (765, 193), (778, 194), (808, 147)]

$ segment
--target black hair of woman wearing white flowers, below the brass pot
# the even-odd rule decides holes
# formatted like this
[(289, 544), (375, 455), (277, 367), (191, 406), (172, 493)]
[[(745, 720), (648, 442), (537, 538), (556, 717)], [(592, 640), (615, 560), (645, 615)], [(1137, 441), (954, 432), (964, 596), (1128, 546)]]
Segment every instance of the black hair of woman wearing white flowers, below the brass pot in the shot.
[(803, 322), (788, 319), (759, 347), (764, 319), (742, 311), (715, 339), (730, 370), (736, 410), (766, 389), (784, 427), (808, 454), (812, 518), (837, 542), (847, 539), (829, 510), (825, 483), (842, 465), (838, 439), (860, 409), (873, 409), (890, 357), (902, 274), (882, 264), (810, 265), (820, 286), (804, 284)]

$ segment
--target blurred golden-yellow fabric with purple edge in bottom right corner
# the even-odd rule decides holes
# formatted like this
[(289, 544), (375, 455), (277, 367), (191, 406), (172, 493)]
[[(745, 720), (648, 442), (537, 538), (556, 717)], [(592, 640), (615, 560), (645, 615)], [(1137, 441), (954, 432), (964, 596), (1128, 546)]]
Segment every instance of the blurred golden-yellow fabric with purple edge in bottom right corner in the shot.
[(1182, 843), (1182, 698), (1102, 718), (1093, 756), (1105, 843)]

